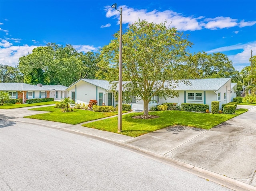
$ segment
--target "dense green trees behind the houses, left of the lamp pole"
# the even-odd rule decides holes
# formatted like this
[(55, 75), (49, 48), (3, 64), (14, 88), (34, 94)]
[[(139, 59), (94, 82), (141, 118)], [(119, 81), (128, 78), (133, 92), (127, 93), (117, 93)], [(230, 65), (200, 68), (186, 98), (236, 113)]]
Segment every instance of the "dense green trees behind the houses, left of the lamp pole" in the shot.
[(19, 59), (18, 68), (29, 84), (69, 86), (80, 78), (95, 78), (98, 54), (78, 53), (72, 45), (48, 43)]

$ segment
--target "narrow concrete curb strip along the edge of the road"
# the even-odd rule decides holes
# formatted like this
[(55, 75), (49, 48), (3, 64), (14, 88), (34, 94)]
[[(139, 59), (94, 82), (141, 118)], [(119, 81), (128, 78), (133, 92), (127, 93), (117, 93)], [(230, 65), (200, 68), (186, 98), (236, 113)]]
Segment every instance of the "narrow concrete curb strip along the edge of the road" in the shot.
[[(16, 122), (21, 122), (21, 121), (16, 121)], [(23, 122), (23, 123), (35, 124), (33, 122)], [(132, 146), (130, 144), (118, 142), (118, 141), (111, 140), (111, 139), (104, 138), (104, 137), (97, 136), (97, 135), (80, 132), (78, 130), (71, 130), (71, 129), (67, 129), (67, 128), (61, 128), (61, 127), (45, 125), (45, 124), (40, 124), (40, 126), (45, 126), (45, 127), (53, 128), (53, 129), (59, 129), (59, 130), (63, 130), (63, 131), (69, 131), (74, 134), (82, 134), (82, 135), (88, 136), (90, 138), (108, 142), (110, 144), (114, 144), (114, 145), (120, 146), (122, 148), (128, 149), (132, 152), (136, 152), (142, 156), (146, 156), (146, 157), (154, 159), (156, 161), (166, 163), (166, 164), (168, 164), (172, 167), (178, 168), (180, 170), (187, 171), (188, 173), (197, 175), (201, 178), (206, 179), (207, 181), (212, 181), (212, 182), (218, 183), (219, 185), (228, 187), (228, 188), (236, 190), (236, 191), (256, 191), (256, 187), (254, 187), (252, 185), (243, 183), (241, 181), (232, 179), (230, 177), (226, 177), (224, 175), (220, 175), (218, 173), (215, 173), (215, 172), (212, 172), (212, 171), (209, 171), (209, 170), (206, 170), (206, 169), (203, 169), (203, 168), (200, 168), (200, 167), (197, 167), (197, 166), (194, 166), (194, 165), (182, 162), (182, 161), (178, 161), (176, 159), (168, 158), (166, 156), (163, 156), (163, 155), (160, 155), (160, 154), (157, 154), (154, 152), (150, 152), (143, 148)]]

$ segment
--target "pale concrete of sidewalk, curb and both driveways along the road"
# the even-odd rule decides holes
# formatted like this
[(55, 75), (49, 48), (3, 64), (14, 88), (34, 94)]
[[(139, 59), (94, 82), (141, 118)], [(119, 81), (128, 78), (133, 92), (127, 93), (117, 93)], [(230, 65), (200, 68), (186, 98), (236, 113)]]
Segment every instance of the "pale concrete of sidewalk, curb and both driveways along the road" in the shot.
[[(35, 106), (36, 107), (36, 106)], [(172, 126), (136, 138), (82, 127), (23, 118), (28, 108), (0, 110), (0, 118), (10, 126), (26, 122), (84, 134), (140, 152), (234, 190), (256, 191), (256, 106), (210, 130)]]

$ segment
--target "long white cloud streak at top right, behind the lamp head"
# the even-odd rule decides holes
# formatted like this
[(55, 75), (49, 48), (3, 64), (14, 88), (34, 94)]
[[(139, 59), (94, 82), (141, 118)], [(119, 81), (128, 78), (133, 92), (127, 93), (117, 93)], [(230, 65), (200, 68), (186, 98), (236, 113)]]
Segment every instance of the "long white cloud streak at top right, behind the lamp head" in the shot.
[[(123, 8), (123, 17), (122, 22), (124, 24), (132, 24), (135, 21), (138, 21), (138, 18), (141, 20), (147, 20), (149, 22), (160, 23), (167, 20), (167, 26), (175, 27), (177, 30), (180, 31), (195, 31), (195, 30), (202, 30), (203, 28), (210, 29), (210, 30), (217, 30), (223, 28), (230, 28), (234, 26), (244, 27), (244, 26), (252, 26), (256, 24), (256, 21), (249, 21), (244, 22), (244, 20), (238, 22), (238, 19), (232, 19), (230, 17), (223, 17), (219, 16), (216, 18), (206, 18), (203, 21), (200, 21), (204, 18), (204, 16), (199, 16), (194, 18), (194, 16), (184, 16), (180, 13), (174, 12), (172, 10), (165, 10), (165, 11), (158, 11), (153, 10), (148, 12), (146, 9), (134, 9), (129, 8), (126, 5), (119, 6)], [(113, 10), (111, 6), (105, 7), (106, 17), (114, 17), (118, 19), (119, 24), (119, 12)]]

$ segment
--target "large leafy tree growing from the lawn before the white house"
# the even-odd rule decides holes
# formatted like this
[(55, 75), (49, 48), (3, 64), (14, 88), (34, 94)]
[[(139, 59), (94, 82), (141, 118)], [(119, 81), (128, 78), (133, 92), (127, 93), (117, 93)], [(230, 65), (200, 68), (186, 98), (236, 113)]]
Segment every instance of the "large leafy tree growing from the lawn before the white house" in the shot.
[[(176, 70), (191, 43), (176, 28), (166, 22), (155, 24), (139, 20), (122, 35), (123, 88), (125, 95), (137, 96), (144, 101), (144, 116), (153, 96), (177, 96), (174, 91), (182, 71)], [(118, 80), (119, 33), (101, 51), (100, 76), (106, 77), (113, 87)], [(102, 74), (102, 71), (106, 71)]]

